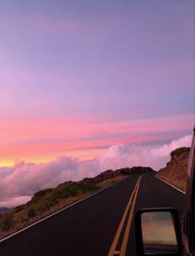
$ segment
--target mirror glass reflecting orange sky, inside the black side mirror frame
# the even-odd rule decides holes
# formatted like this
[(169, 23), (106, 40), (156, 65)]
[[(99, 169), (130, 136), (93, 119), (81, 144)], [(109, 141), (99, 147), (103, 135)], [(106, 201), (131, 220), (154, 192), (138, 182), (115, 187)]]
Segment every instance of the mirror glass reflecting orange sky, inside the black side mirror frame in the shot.
[(141, 214), (144, 253), (178, 253), (172, 214), (148, 212)]

